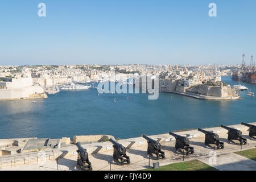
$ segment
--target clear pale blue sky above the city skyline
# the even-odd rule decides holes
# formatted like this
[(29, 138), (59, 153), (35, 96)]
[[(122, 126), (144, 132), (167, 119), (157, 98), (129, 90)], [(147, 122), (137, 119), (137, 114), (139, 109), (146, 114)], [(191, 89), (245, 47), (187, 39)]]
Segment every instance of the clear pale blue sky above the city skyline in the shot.
[(255, 8), (255, 0), (2, 0), (0, 65), (240, 64), (242, 53), (249, 64)]

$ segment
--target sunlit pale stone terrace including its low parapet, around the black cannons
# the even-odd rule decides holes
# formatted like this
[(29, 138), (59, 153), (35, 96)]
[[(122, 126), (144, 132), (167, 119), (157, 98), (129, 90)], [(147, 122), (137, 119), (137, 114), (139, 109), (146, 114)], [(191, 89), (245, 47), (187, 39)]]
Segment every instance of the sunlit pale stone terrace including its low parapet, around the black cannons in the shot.
[[(253, 125), (256, 122), (251, 123)], [(234, 127), (236, 129), (240, 129), (243, 134), (243, 138), (247, 138), (247, 144), (242, 146), (242, 150), (246, 150), (249, 148), (255, 148), (256, 140), (251, 139), (247, 131), (249, 128), (243, 125), (232, 125), (230, 127)], [(190, 156), (185, 156), (184, 161), (198, 159), (201, 162), (207, 163), (210, 166), (213, 166), (219, 170), (256, 170), (256, 162), (254, 160), (250, 160), (244, 158), (240, 155), (233, 154), (233, 152), (240, 151), (241, 146), (237, 143), (231, 143), (228, 141), (227, 130), (222, 129), (221, 127), (214, 127), (210, 129), (205, 129), (208, 131), (213, 131), (214, 133), (218, 133), (220, 136), (220, 141), (224, 142), (224, 149), (215, 150), (217, 154), (216, 163), (210, 163), (212, 160), (213, 148), (205, 146), (204, 144), (204, 134), (197, 131), (183, 131), (178, 132), (176, 134), (183, 135), (189, 137), (190, 146), (194, 147), (195, 154)], [(166, 154), (166, 159), (160, 160), (150, 160), (150, 164), (154, 162), (160, 162), (160, 166), (164, 166), (166, 164), (183, 162), (183, 155), (177, 154), (175, 151), (175, 141), (172, 140), (172, 136), (169, 134), (162, 135), (152, 135), (149, 136), (153, 139), (158, 140), (162, 144), (162, 150)], [(147, 141), (142, 137), (131, 138), (131, 139), (122, 139), (118, 140), (119, 143), (122, 143), (123, 146), (127, 148), (126, 153), (130, 156), (131, 164), (120, 166), (119, 164), (115, 164), (112, 162), (111, 169), (114, 170), (139, 170), (148, 167), (148, 155), (147, 155)], [(82, 147), (86, 148), (89, 153), (89, 160), (92, 162), (92, 167), (94, 171), (108, 171), (110, 169), (110, 160), (113, 156), (112, 143), (110, 142), (101, 142), (101, 143), (92, 143), (92, 144), (82, 144)], [(0, 170), (57, 170), (56, 158), (59, 159), (59, 170), (80, 170), (79, 167), (76, 166), (77, 147), (69, 146), (58, 148), (57, 150), (48, 151), (46, 157), (46, 164), (42, 165), (42, 163), (38, 163), (38, 153), (34, 152), (34, 159), (31, 156), (18, 156), (17, 158), (25, 158), (21, 160), (20, 163), (6, 163), (0, 166)], [(24, 154), (23, 154), (24, 155)], [(31, 158), (31, 160), (26, 160)], [(11, 160), (11, 159), (8, 159)], [(14, 160), (14, 159), (13, 159)], [(26, 162), (27, 161), (27, 162)]]

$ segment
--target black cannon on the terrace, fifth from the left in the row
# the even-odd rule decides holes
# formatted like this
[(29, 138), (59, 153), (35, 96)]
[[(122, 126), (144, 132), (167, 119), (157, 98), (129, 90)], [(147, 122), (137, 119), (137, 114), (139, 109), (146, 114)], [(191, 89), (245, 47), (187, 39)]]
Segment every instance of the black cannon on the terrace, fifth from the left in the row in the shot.
[(212, 133), (210, 131), (202, 130), (202, 129), (198, 129), (198, 131), (201, 131), (202, 133), (205, 134), (204, 143), (206, 145), (214, 144), (217, 146), (217, 150), (220, 148), (221, 149), (224, 148), (224, 142), (220, 142), (220, 140), (218, 140), (218, 134)]

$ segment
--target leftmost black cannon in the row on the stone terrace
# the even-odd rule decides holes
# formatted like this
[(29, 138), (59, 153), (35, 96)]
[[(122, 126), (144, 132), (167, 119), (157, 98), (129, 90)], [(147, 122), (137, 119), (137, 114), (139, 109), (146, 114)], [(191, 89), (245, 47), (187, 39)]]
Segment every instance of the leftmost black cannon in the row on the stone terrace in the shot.
[(78, 148), (77, 164), (81, 167), (82, 171), (84, 171), (85, 169), (88, 169), (88, 171), (92, 171), (92, 164), (88, 159), (88, 152), (86, 152), (85, 148), (82, 148), (80, 142), (77, 142), (76, 146)]

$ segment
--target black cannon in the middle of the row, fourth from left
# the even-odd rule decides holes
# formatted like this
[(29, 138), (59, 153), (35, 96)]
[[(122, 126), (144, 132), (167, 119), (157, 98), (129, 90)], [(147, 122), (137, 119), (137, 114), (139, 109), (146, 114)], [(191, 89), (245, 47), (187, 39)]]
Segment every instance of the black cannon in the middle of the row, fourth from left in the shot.
[(194, 147), (189, 146), (189, 139), (187, 137), (183, 137), (174, 133), (169, 133), (170, 135), (174, 136), (176, 139), (175, 149), (183, 149), (186, 151), (186, 155), (194, 154)]

